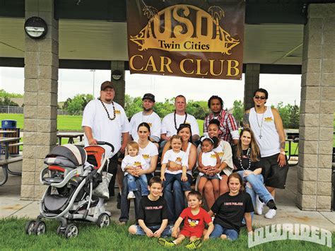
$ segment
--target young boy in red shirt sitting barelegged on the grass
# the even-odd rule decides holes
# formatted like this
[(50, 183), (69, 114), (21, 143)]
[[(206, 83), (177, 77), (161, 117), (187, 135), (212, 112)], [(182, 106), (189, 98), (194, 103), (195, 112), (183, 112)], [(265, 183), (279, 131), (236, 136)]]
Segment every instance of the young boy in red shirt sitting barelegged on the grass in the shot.
[[(198, 191), (191, 191), (187, 194), (187, 202), (189, 207), (182, 211), (180, 217), (175, 222), (175, 226), (173, 227), (172, 237), (177, 239), (173, 241), (167, 241), (163, 238), (158, 239), (158, 244), (165, 247), (173, 247), (182, 243), (184, 238), (189, 237), (189, 244), (186, 245), (188, 249), (195, 249), (202, 245), (201, 236), (204, 232), (205, 222), (208, 225), (208, 230), (204, 235), (204, 240), (209, 239), (209, 235), (212, 233), (214, 229), (214, 225), (211, 219), (211, 216), (201, 208), (202, 197)], [(184, 221), (184, 227), (180, 231), (178, 235), (178, 229), (180, 224)]]

